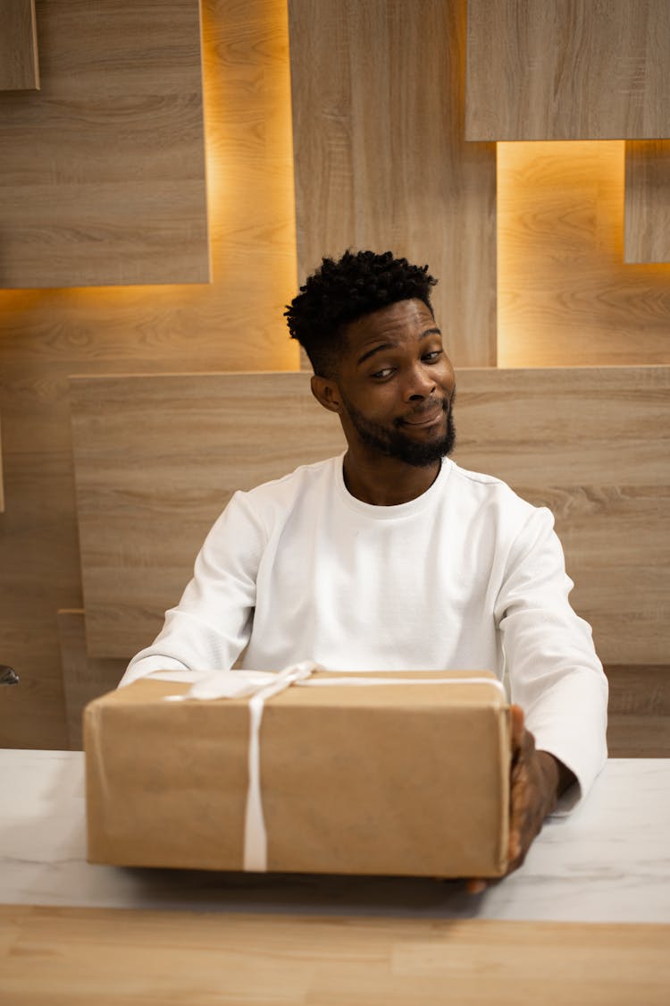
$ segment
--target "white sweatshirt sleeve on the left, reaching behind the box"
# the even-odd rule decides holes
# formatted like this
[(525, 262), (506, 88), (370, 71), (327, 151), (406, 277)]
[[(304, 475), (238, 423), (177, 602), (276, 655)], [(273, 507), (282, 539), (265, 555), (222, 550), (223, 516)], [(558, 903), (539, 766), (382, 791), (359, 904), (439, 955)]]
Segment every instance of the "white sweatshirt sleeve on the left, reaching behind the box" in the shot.
[(236, 493), (198, 554), (193, 579), (166, 613), (154, 643), (129, 664), (121, 684), (157, 670), (226, 670), (246, 646), (265, 532)]

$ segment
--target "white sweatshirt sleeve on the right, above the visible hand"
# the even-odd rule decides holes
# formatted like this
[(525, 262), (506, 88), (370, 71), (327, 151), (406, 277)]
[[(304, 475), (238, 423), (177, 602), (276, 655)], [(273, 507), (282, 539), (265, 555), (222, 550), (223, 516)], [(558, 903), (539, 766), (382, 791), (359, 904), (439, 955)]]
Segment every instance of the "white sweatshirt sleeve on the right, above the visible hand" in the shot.
[(553, 518), (534, 510), (510, 550), (495, 616), (512, 702), (524, 710), (536, 747), (579, 782), (560, 813), (586, 795), (607, 759), (607, 678), (591, 628), (568, 600), (572, 589)]

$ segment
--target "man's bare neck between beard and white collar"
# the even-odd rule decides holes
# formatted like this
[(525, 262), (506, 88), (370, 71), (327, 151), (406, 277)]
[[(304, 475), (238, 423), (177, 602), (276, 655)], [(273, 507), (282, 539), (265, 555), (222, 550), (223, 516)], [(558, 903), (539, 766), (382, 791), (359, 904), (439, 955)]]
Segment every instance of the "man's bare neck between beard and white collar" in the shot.
[(343, 474), (349, 492), (363, 503), (398, 506), (417, 499), (430, 489), (441, 467), (440, 461), (417, 468), (396, 458), (359, 457), (350, 447), (345, 455)]

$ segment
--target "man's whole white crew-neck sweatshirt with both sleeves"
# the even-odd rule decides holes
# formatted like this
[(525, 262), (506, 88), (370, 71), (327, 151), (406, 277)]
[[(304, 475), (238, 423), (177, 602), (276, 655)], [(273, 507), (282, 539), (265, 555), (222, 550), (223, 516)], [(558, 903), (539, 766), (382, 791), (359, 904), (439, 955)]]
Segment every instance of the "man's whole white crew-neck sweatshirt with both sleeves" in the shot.
[(608, 689), (572, 588), (550, 512), (498, 479), (444, 460), (422, 496), (372, 506), (340, 456), (235, 493), (122, 684), (227, 669), (245, 646), (257, 670), (506, 670), (536, 746), (584, 795), (607, 757)]

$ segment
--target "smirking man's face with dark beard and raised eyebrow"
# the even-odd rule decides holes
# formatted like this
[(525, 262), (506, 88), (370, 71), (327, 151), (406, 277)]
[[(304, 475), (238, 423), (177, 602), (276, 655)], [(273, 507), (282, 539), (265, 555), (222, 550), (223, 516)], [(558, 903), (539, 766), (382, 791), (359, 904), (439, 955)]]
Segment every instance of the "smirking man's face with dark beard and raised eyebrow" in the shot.
[(419, 300), (348, 326), (337, 388), (350, 445), (424, 467), (451, 453), (455, 377), (440, 330)]

